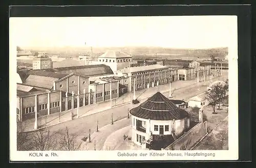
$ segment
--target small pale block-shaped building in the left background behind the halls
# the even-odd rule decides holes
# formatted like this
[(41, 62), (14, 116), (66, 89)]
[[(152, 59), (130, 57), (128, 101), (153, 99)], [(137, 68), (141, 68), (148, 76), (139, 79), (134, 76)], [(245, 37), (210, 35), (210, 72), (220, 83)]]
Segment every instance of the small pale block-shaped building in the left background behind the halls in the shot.
[(48, 57), (37, 57), (33, 59), (33, 69), (48, 69), (52, 68), (52, 59)]

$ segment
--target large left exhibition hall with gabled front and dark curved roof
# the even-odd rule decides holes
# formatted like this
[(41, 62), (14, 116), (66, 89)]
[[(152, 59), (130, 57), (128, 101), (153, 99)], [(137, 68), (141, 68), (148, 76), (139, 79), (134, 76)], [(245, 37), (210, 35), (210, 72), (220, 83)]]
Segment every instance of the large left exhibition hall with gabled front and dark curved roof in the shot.
[(118, 80), (89, 81), (90, 76), (110, 74), (110, 71), (110, 67), (105, 65), (19, 71), (17, 120), (34, 118), (35, 110), (40, 117), (77, 108), (78, 103), (85, 106), (109, 100), (110, 97), (118, 98)]

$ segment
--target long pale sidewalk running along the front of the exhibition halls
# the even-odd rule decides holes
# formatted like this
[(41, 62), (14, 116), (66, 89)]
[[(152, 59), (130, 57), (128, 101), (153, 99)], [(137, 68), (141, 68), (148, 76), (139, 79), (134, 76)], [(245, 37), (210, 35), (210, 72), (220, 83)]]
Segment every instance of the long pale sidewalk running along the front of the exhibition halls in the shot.
[[(220, 80), (222, 78), (226, 79), (227, 77), (226, 77), (226, 75), (225, 76), (223, 75), (220, 77)], [(207, 86), (211, 82), (218, 80), (218, 77), (213, 78), (213, 79), (210, 79), (210, 77), (209, 77), (208, 79), (209, 80), (207, 80), (205, 82)], [(177, 80), (172, 83), (172, 91), (178, 90), (181, 88), (186, 88), (191, 85), (199, 85), (200, 86), (200, 85), (203, 85), (203, 83), (204, 83), (203, 81), (197, 82), (197, 79), (186, 80), (186, 81)], [(157, 91), (161, 91), (161, 93), (166, 92), (166, 94), (164, 94), (164, 95), (167, 96), (167, 94), (169, 93), (169, 83), (167, 83), (165, 85), (156, 86), (156, 87), (150, 88), (150, 89), (136, 91), (135, 95), (138, 100), (142, 101), (143, 99), (154, 95)], [(121, 97), (112, 100), (112, 108), (121, 106), (123, 104), (131, 103), (132, 100), (133, 100), (133, 92), (125, 93)], [(89, 116), (89, 115), (104, 111), (106, 109), (110, 109), (110, 100), (104, 101), (101, 103), (97, 103), (97, 104), (81, 106), (81, 107), (79, 107), (79, 118)], [(70, 121), (70, 120), (72, 120), (72, 118), (71, 118), (72, 111), (75, 115), (77, 114), (77, 108), (75, 108), (75, 109), (71, 109), (71, 110), (67, 110), (67, 111), (62, 111), (61, 113), (55, 113), (55, 114), (51, 114), (48, 116), (39, 117), (39, 118), (37, 118), (38, 128), (46, 128), (46, 127), (53, 126), (53, 125), (56, 125), (59, 123)], [(73, 120), (75, 120), (76, 117)], [(25, 126), (25, 131), (34, 131), (34, 122), (35, 122), (35, 119), (24, 121), (23, 125)]]

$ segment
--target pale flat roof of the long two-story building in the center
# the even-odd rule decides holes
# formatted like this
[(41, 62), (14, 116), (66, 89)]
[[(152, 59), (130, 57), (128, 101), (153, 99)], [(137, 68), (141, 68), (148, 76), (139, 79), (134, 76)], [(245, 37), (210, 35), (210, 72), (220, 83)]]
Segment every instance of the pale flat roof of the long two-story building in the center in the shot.
[(146, 66), (139, 66), (139, 67), (129, 67), (119, 70), (120, 72), (129, 73), (129, 72), (141, 72), (141, 71), (148, 71), (148, 70), (155, 70), (155, 69), (162, 69), (162, 68), (168, 68), (163, 65), (146, 65)]

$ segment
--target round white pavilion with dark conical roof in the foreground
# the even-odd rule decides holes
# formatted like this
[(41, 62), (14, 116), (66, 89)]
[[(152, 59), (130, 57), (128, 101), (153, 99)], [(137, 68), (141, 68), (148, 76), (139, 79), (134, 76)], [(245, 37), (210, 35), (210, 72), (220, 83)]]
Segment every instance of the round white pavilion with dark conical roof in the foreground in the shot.
[[(130, 110), (132, 141), (142, 148), (160, 150), (189, 128), (188, 113), (157, 92)], [(167, 144), (164, 144), (163, 139)]]

